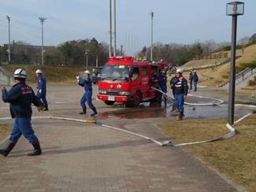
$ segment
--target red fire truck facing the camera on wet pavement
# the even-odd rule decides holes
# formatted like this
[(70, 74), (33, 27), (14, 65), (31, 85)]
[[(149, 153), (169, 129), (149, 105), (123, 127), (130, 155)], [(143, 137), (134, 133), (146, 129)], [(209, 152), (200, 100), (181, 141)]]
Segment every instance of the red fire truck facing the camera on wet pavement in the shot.
[(152, 78), (162, 69), (161, 64), (133, 61), (132, 57), (109, 57), (98, 82), (98, 99), (106, 105), (124, 102), (137, 106), (156, 97)]

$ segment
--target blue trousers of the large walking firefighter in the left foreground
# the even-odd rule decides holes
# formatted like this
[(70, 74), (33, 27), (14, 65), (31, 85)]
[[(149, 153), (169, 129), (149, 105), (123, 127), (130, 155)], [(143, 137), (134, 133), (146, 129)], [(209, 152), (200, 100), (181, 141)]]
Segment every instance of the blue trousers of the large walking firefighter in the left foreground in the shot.
[(27, 138), (30, 143), (38, 142), (39, 139), (35, 136), (32, 128), (31, 118), (16, 118), (14, 120), (9, 140), (16, 143), (21, 135), (24, 135), (24, 138)]

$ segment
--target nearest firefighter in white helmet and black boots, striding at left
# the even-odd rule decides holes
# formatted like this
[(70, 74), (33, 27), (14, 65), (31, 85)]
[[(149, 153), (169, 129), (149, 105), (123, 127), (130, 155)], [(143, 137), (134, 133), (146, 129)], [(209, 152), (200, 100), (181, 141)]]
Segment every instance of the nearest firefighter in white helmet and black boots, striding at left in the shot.
[(2, 101), (9, 102), (10, 113), (14, 118), (13, 130), (10, 134), (9, 141), (6, 148), (0, 150), (0, 153), (7, 157), (9, 152), (13, 150), (21, 135), (28, 139), (32, 144), (34, 150), (28, 153), (28, 156), (40, 155), (42, 153), (39, 139), (34, 134), (31, 118), (32, 118), (32, 104), (38, 107), (39, 111), (43, 111), (44, 105), (35, 96), (32, 87), (25, 83), (26, 72), (19, 68), (14, 72), (15, 85), (9, 90), (6, 87), (2, 88)]

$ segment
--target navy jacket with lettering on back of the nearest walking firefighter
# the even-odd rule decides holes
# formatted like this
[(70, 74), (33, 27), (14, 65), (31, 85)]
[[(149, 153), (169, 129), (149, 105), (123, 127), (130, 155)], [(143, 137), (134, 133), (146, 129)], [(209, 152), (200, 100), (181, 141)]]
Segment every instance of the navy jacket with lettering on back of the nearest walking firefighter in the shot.
[(2, 101), (10, 103), (12, 118), (31, 118), (32, 103), (35, 106), (43, 105), (35, 96), (32, 87), (25, 82), (15, 84), (9, 91), (2, 89)]

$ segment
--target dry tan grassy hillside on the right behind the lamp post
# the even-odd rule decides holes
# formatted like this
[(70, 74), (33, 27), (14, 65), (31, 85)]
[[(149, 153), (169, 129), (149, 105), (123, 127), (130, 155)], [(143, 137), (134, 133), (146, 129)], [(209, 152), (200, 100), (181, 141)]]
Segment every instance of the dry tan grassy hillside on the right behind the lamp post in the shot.
[[(230, 51), (228, 52), (228, 55), (230, 57)], [(236, 59), (236, 68), (242, 70), (245, 63), (256, 61), (256, 45), (247, 46), (243, 53), (241, 50), (238, 50), (237, 55), (239, 56), (239, 58)], [(203, 61), (191, 62), (193, 65), (204, 65)], [(191, 65), (191, 62), (188, 62), (185, 66)], [(201, 77), (200, 85), (217, 87), (221, 83), (226, 82), (229, 77), (229, 67), (229, 63), (226, 63), (224, 65), (218, 66), (217, 68), (206, 68), (197, 70), (199, 77)], [(188, 72), (185, 73), (185, 75), (187, 74)]]

